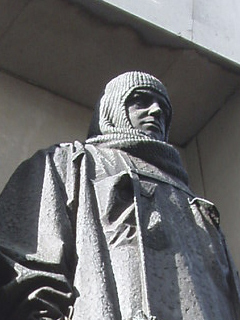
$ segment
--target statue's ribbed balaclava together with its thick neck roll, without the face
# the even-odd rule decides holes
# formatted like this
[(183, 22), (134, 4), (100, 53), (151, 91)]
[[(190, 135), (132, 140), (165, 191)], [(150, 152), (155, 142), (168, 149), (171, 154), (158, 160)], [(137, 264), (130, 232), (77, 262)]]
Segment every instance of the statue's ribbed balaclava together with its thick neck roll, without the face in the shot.
[[(133, 90), (139, 88), (159, 92), (168, 101), (171, 111), (167, 90), (161, 81), (144, 72), (126, 72), (106, 85), (100, 103), (95, 108), (86, 143), (126, 151), (187, 183), (187, 174), (182, 168), (178, 151), (166, 142), (133, 128), (128, 119), (125, 101)], [(167, 135), (171, 113), (166, 123)]]

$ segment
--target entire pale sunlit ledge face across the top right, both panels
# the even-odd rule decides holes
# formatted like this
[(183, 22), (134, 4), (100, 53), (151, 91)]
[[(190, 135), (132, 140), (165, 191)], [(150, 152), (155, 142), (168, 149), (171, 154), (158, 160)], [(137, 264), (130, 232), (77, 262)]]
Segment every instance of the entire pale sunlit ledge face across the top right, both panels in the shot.
[(103, 0), (240, 63), (237, 0)]

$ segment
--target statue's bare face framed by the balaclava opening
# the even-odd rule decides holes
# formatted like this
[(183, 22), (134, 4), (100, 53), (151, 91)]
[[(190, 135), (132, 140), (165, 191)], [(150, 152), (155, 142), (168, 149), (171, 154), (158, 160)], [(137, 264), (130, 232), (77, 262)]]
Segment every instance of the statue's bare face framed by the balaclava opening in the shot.
[(157, 140), (165, 140), (165, 124), (170, 110), (164, 96), (150, 89), (136, 89), (127, 98), (125, 106), (135, 129)]

